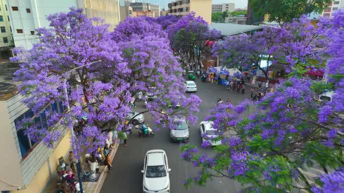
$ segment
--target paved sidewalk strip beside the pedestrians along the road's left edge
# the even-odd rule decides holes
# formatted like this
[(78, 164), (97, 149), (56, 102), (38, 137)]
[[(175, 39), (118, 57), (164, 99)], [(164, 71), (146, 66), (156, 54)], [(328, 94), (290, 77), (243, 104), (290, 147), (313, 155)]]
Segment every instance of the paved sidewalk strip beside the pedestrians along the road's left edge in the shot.
[[(111, 152), (111, 161), (114, 159), (117, 149), (118, 149), (119, 143), (116, 143), (114, 146), (114, 149)], [(99, 193), (102, 185), (104, 183), (104, 180), (108, 174), (108, 168), (105, 165), (99, 166), (100, 176), (97, 181), (83, 181), (82, 187), (83, 191), (85, 193)], [(56, 175), (53, 177), (51, 183), (49, 184), (47, 190), (45, 193), (55, 193), (56, 191)]]

